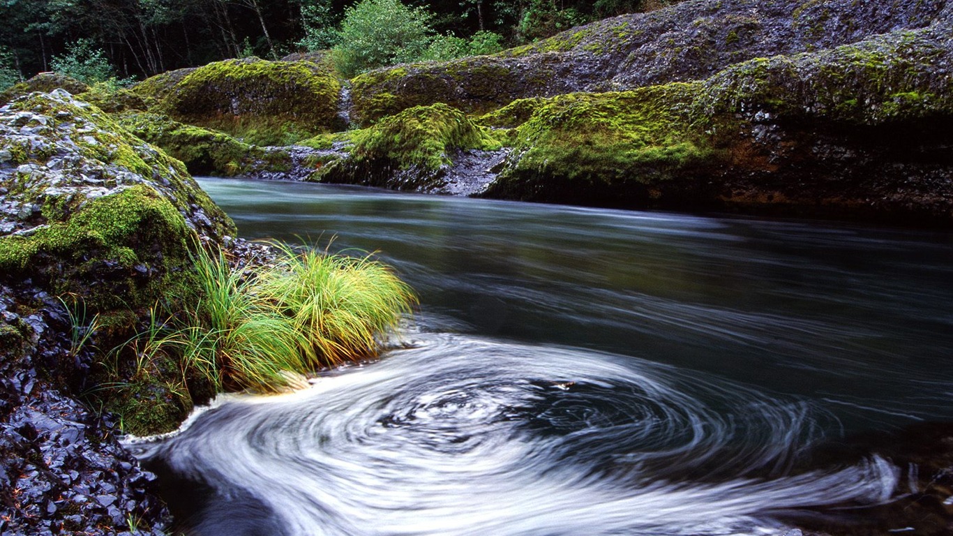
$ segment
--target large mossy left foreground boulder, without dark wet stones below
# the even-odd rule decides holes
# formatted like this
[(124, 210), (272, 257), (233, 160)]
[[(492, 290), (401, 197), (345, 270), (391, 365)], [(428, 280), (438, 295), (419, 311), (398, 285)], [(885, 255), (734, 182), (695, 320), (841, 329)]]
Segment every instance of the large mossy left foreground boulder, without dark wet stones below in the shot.
[[(19, 297), (10, 309), (45, 307), (33, 303), (44, 296), (75, 303), (84, 321), (96, 319), (104, 351), (132, 339), (153, 307), (174, 311), (176, 299), (193, 299), (198, 244), (235, 234), (181, 162), (59, 90), (0, 109), (0, 184), (0, 287)], [(128, 398), (124, 389), (141, 378), (142, 363), (135, 352), (115, 356), (90, 381), (118, 385), (104, 408), (129, 411), (115, 404)], [(79, 361), (76, 354), (50, 362), (48, 373), (71, 379), (61, 384), (87, 381), (70, 372)], [(164, 429), (189, 409), (176, 374), (150, 377), (149, 396), (135, 398), (149, 408), (143, 415), (169, 417)]]

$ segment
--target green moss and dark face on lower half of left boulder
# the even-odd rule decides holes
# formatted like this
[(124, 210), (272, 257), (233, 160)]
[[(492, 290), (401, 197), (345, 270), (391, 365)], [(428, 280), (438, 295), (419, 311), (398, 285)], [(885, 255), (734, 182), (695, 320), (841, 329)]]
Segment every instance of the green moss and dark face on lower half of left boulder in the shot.
[[(46, 279), (54, 294), (82, 295), (94, 312), (136, 309), (188, 285), (191, 237), (172, 203), (139, 185), (93, 199), (29, 236), (0, 237), (0, 271)], [(156, 276), (143, 277), (149, 273)]]

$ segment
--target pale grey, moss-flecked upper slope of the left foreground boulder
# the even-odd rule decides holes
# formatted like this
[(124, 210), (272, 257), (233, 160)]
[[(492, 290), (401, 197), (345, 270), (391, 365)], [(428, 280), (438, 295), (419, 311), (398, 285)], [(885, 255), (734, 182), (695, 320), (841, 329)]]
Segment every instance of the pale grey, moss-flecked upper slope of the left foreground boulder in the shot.
[(69, 93), (30, 93), (0, 115), (0, 162), (8, 200), (23, 207), (14, 230), (66, 219), (99, 196), (147, 185), (203, 236), (234, 236), (234, 224), (183, 164), (130, 134), (111, 115)]

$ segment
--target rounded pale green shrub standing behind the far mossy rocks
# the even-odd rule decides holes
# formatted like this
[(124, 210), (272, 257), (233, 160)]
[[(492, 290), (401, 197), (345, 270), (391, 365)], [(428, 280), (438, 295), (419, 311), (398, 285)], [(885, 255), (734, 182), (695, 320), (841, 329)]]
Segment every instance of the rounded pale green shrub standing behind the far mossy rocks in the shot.
[(361, 0), (348, 8), (334, 48), (345, 76), (420, 58), (432, 40), (433, 15), (400, 0)]

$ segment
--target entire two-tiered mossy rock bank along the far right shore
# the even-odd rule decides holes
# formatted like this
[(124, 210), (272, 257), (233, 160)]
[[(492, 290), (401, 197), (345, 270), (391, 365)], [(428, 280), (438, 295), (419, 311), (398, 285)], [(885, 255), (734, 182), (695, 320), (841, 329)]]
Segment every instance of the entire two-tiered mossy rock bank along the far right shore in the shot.
[(951, 21), (943, 0), (688, 1), (368, 72), (352, 116), (483, 113), (510, 149), (483, 196), (947, 226)]

